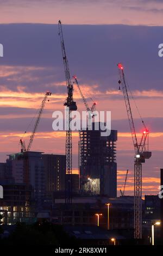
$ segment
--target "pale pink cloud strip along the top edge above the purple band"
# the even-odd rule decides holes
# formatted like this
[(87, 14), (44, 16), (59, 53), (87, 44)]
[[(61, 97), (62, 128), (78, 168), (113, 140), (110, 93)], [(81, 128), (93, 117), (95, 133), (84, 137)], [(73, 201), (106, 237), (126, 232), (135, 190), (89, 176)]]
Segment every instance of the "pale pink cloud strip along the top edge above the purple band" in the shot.
[(125, 8), (159, 9), (159, 0), (15, 0), (14, 5), (1, 0), (0, 4), (2, 23), (57, 23), (61, 19), (65, 24), (162, 25), (161, 13)]

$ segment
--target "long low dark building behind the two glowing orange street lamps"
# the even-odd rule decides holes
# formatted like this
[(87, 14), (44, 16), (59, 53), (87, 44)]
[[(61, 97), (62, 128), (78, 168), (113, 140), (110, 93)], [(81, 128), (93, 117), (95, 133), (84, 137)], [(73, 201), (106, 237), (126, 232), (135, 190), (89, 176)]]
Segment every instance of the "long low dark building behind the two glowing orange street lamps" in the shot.
[(108, 228), (108, 207), (110, 229), (134, 230), (134, 197), (108, 198), (99, 196), (74, 197), (72, 204), (65, 205), (64, 199), (56, 199), (52, 210), (52, 222), (61, 225), (97, 225), (96, 214), (100, 216), (99, 225)]

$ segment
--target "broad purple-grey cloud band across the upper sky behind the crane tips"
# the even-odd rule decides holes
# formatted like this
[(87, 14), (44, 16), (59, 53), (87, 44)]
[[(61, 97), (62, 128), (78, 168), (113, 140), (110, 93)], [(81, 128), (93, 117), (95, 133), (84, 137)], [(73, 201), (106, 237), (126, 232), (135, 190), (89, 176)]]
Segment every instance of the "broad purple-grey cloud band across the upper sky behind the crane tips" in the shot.
[[(63, 31), (71, 76), (81, 84), (98, 84), (101, 92), (117, 89), (117, 63), (122, 62), (131, 90), (162, 90), (161, 27), (65, 25)], [(41, 91), (64, 80), (57, 25), (0, 25), (0, 33), (1, 65), (15, 66), (1, 77), (2, 86)]]

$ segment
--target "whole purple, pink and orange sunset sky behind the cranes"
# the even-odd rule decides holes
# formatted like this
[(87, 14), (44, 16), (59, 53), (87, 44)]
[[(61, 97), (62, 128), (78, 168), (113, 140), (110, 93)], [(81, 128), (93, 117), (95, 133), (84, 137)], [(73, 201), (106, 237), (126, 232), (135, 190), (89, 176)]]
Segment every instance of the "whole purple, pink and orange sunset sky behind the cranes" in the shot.
[[(162, 65), (158, 45), (163, 43), (163, 3), (134, 1), (2, 1), (0, 0), (0, 161), (20, 151), (47, 90), (52, 96), (35, 136), (32, 150), (65, 154), (65, 132), (52, 130), (52, 113), (64, 111), (66, 85), (58, 20), (62, 21), (72, 75), (98, 111), (111, 111), (111, 127), (118, 130), (118, 194), (129, 175), (126, 194), (133, 194), (134, 149), (117, 63), (122, 62), (136, 105), (149, 129), (151, 159), (143, 164), (143, 195), (157, 194), (163, 148)], [(74, 100), (85, 110), (76, 86)], [(131, 100), (137, 136), (142, 124)], [(32, 121), (33, 120), (33, 121)], [(24, 133), (24, 131), (27, 131)], [(73, 170), (78, 169), (78, 132), (73, 132)]]

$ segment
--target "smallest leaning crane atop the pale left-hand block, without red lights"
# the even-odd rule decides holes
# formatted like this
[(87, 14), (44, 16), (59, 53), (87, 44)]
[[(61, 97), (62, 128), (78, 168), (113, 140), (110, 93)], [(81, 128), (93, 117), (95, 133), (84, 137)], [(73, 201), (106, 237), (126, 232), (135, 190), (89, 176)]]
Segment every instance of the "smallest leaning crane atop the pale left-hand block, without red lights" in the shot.
[(45, 103), (47, 101), (47, 97), (48, 96), (51, 96), (52, 93), (50, 92), (46, 92), (45, 96), (43, 97), (43, 100), (41, 102), (41, 106), (40, 106), (40, 109), (39, 109), (39, 114), (37, 115), (37, 118), (36, 118), (36, 121), (35, 121), (35, 125), (34, 125), (34, 129), (32, 131), (32, 134), (30, 135), (30, 139), (29, 139), (29, 143), (27, 145), (27, 148), (26, 148), (26, 145), (25, 143), (22, 141), (22, 139), (20, 139), (20, 143), (21, 143), (21, 149), (23, 152), (28, 152), (32, 146), (32, 143), (33, 143), (33, 140), (34, 140), (34, 137), (35, 137), (35, 133), (36, 133), (36, 130), (37, 130), (37, 126), (39, 125), (39, 121), (40, 121), (40, 118), (41, 118), (41, 115), (42, 115), (42, 112), (43, 112), (43, 108), (45, 107)]

